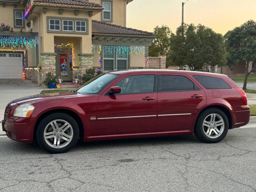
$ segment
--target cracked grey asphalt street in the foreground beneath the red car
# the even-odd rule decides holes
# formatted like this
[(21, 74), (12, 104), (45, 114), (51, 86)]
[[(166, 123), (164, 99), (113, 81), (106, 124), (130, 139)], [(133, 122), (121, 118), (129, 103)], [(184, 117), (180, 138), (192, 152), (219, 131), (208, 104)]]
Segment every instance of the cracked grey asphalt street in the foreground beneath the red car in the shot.
[(2, 137), (0, 191), (256, 191), (252, 123), (214, 144), (194, 135), (112, 140), (55, 155)]

